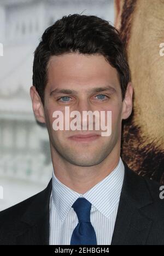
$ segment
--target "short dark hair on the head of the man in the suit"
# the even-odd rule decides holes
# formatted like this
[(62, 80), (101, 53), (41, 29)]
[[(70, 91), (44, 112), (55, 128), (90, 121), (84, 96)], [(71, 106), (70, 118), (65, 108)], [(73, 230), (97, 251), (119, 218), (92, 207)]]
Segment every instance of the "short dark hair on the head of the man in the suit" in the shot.
[(124, 99), (130, 81), (130, 69), (119, 31), (97, 16), (70, 14), (63, 16), (44, 31), (34, 51), (33, 86), (36, 87), (43, 104), (50, 57), (72, 52), (103, 55), (118, 71)]

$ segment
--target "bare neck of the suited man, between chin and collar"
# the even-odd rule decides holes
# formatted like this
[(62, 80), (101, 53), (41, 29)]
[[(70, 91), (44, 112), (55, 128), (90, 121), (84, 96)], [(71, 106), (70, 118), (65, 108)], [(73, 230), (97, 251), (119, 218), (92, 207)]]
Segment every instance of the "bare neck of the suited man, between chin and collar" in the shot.
[(84, 194), (115, 169), (120, 159), (120, 148), (115, 147), (106, 159), (93, 166), (73, 165), (63, 159), (52, 146), (51, 158), (57, 179), (72, 190)]

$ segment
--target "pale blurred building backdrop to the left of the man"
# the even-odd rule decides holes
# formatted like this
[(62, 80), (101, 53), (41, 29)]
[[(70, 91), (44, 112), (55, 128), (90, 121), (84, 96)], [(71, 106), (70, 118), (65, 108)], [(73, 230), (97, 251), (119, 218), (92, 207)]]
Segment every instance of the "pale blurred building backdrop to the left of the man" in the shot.
[(83, 13), (114, 22), (113, 0), (0, 0), (0, 210), (42, 191), (52, 175), (48, 132), (30, 98), (33, 52), (46, 27)]

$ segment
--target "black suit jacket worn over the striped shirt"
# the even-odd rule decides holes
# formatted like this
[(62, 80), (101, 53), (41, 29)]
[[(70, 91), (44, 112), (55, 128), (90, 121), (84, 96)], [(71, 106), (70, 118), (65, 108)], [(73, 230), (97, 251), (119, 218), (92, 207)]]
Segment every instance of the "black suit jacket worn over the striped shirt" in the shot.
[[(164, 199), (159, 183), (126, 163), (112, 244), (164, 244)], [(49, 244), (51, 180), (42, 192), (0, 212), (0, 244)]]

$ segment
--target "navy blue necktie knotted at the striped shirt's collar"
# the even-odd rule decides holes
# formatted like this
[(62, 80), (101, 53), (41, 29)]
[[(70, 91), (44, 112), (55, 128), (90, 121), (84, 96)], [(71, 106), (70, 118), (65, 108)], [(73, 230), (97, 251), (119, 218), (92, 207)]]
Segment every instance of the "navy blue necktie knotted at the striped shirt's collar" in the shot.
[(70, 244), (97, 244), (96, 233), (90, 221), (91, 203), (79, 197), (72, 205), (79, 223), (75, 227)]

